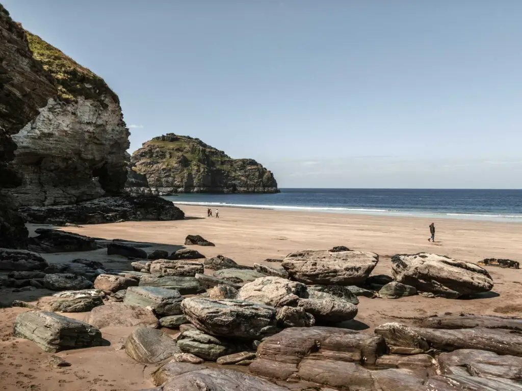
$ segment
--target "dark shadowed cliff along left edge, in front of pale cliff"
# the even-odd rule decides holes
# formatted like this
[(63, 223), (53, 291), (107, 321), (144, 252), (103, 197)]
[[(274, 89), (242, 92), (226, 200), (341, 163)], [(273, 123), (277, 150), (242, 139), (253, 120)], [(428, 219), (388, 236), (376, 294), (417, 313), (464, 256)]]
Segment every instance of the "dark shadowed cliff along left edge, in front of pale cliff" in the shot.
[(9, 195), (21, 183), (7, 166), (16, 150), (11, 136), (56, 94), (52, 78), (33, 59), (25, 32), (0, 4), (0, 247), (27, 246), (27, 230)]

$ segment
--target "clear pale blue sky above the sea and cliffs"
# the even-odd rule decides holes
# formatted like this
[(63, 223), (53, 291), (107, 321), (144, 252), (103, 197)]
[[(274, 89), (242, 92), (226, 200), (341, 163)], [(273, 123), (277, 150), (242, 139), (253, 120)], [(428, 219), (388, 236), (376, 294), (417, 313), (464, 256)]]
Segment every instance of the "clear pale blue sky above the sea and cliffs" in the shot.
[[(520, 0), (0, 0), (166, 132), (281, 187), (522, 188)], [(131, 151), (131, 152), (132, 152)]]

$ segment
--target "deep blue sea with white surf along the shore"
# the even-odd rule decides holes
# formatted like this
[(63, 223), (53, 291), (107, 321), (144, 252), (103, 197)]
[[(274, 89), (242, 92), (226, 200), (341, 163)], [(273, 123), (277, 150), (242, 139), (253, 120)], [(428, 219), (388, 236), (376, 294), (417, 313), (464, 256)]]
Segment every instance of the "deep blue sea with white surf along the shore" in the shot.
[(167, 196), (179, 205), (459, 218), (522, 223), (522, 190), (281, 189), (277, 194)]

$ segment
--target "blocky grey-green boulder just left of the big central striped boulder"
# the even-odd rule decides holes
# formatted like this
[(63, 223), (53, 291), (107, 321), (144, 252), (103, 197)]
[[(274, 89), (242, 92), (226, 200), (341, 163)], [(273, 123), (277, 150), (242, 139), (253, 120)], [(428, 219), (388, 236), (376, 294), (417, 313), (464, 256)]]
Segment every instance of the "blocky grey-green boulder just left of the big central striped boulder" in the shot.
[(147, 286), (127, 288), (123, 302), (129, 306), (150, 307), (159, 316), (181, 314), (181, 302), (184, 297), (174, 289)]

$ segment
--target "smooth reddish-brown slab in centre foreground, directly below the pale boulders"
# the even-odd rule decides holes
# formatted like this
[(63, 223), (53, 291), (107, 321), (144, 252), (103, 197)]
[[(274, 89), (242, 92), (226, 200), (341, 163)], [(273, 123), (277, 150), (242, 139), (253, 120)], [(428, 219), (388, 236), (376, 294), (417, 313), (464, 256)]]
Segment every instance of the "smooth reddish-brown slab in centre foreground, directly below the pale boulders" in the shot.
[(385, 352), (381, 336), (336, 327), (291, 327), (264, 339), (249, 369), (256, 375), (286, 380), (305, 358), (374, 365)]

